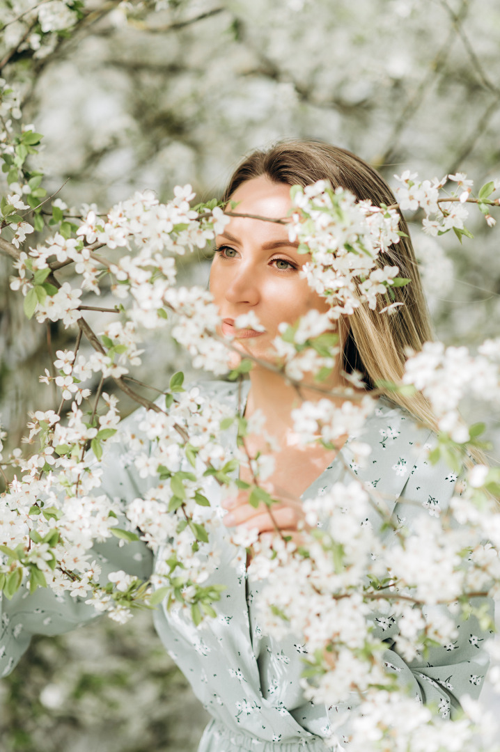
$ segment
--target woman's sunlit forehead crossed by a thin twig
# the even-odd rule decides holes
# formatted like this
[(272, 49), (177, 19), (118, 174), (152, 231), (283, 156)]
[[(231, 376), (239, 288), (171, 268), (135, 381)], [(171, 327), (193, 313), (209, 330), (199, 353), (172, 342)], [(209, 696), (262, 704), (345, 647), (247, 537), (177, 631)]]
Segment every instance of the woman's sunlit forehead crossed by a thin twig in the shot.
[[(292, 205), (290, 186), (285, 183), (273, 183), (265, 175), (241, 183), (241, 186), (238, 186), (232, 194), (231, 200), (238, 202), (238, 206), (234, 209), (228, 206), (227, 211), (235, 211), (238, 214), (256, 214), (270, 219), (286, 220), (286, 214)], [(250, 217), (231, 217), (231, 222), (226, 229), (235, 237), (250, 233), (255, 238), (288, 238), (286, 225)]]

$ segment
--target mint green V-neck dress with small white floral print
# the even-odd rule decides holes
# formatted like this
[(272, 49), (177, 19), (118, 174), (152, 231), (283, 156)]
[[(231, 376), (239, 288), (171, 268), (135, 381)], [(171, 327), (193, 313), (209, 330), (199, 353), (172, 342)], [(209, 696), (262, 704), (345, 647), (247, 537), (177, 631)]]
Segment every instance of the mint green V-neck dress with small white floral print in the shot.
[[(206, 399), (220, 400), (234, 409), (238, 408), (238, 391), (240, 409), (246, 401), (248, 384), (242, 390), (223, 381), (198, 386)], [(123, 423), (130, 425), (142, 412), (136, 411)], [(429, 514), (436, 507), (445, 510), (453, 494), (453, 473), (444, 465), (433, 466), (422, 459), (423, 445), (429, 438), (429, 431), (418, 427), (409, 414), (388, 400), (379, 399), (362, 436), (362, 441), (372, 447), (368, 464), (364, 468), (356, 465), (349, 442), (341, 450), (359, 480), (391, 499), (393, 515), (408, 526), (417, 514)], [(235, 447), (235, 432), (228, 429), (224, 440), (228, 447)], [(112, 447), (103, 478), (105, 493), (120, 497), (125, 504), (140, 497), (147, 488), (147, 481), (139, 478), (128, 450), (119, 442)], [(302, 498), (325, 493), (338, 481), (348, 483), (350, 476), (342, 462), (335, 459)], [(219, 487), (213, 479), (208, 479), (205, 493), (211, 504), (220, 503)], [(420, 508), (405, 505), (405, 498), (420, 501)], [(380, 530), (376, 513), (370, 522)], [(304, 644), (299, 638), (276, 641), (262, 634), (254, 608), (262, 583), (247, 581), (244, 563), (239, 568), (232, 564), (241, 551), (229, 544), (225, 531), (220, 530), (218, 535), (222, 554), (211, 581), (225, 584), (226, 590), (217, 604), (217, 618), (196, 628), (182, 614), (168, 612), (161, 605), (154, 614), (156, 631), (165, 649), (213, 718), (198, 752), (326, 752), (331, 745), (326, 747), (323, 738), (331, 733), (330, 723), (333, 725), (338, 714), (350, 706), (347, 703), (326, 708), (305, 700), (298, 681), (304, 667)], [(390, 530), (380, 532), (389, 543), (391, 535), (394, 533)], [(142, 542), (119, 547), (114, 539), (96, 545), (95, 553), (102, 564), (102, 581), (106, 581), (108, 572), (117, 569), (147, 578), (155, 566), (151, 551)], [(240, 559), (243, 562), (244, 556)], [(92, 606), (79, 599), (54, 596), (41, 589), (29, 595), (25, 587), (11, 601), (4, 598), (2, 607), (3, 675), (20, 660), (32, 635), (67, 632), (96, 615)], [(373, 620), (375, 634), (387, 644), (387, 670), (397, 672), (418, 699), (434, 702), (444, 717), (453, 717), (463, 693), (478, 695), (488, 665), (483, 641), (489, 634), (481, 631), (474, 617), (459, 624), (459, 638), (453, 644), (432, 648), (425, 660), (416, 659), (409, 664), (392, 650), (397, 630), (394, 620), (376, 613)], [(336, 729), (335, 736), (340, 744), (337, 748), (348, 750), (347, 729)]]

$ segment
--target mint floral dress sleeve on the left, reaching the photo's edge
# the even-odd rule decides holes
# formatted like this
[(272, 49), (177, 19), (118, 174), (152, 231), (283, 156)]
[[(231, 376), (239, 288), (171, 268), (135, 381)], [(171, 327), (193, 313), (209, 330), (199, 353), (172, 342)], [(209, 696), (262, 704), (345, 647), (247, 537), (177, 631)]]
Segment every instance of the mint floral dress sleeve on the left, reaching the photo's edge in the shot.
[[(120, 423), (119, 434), (135, 416)], [(144, 482), (133, 463), (126, 462), (126, 447), (117, 441), (109, 447), (100, 465), (103, 482), (98, 493), (107, 493), (123, 502), (130, 502), (144, 493)], [(120, 522), (119, 525), (120, 526)], [(129, 575), (146, 580), (153, 571), (153, 553), (143, 541), (125, 543), (114, 536), (92, 547), (95, 561), (101, 566), (99, 580), (108, 581), (108, 573), (123, 569)], [(89, 559), (92, 562), (92, 558)], [(21, 584), (14, 598), (0, 596), (2, 622), (0, 628), (0, 676), (8, 675), (27, 650), (32, 635), (60, 635), (95, 619), (98, 612), (86, 605), (85, 598), (72, 597), (67, 591), (56, 595), (50, 588), (29, 593), (29, 585)]]

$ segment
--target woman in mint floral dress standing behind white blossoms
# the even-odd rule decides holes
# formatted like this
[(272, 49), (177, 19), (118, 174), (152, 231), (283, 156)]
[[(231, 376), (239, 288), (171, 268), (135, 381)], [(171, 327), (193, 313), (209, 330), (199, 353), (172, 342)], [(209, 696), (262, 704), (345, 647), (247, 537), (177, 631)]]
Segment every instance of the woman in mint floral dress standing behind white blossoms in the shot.
[[(238, 202), (237, 214), (286, 217), (289, 187), (297, 183), (307, 186), (320, 179), (329, 180), (334, 187), (348, 188), (358, 199), (371, 199), (376, 205), (395, 200), (380, 175), (361, 159), (316, 141), (283, 142), (268, 152), (253, 153), (233, 174), (224, 198)], [(407, 232), (404, 220), (401, 229)], [(396, 381), (402, 376), (405, 347), (420, 350), (423, 342), (432, 338), (409, 238), (403, 237), (391, 254), (390, 262), (398, 266), (402, 277), (411, 280), (407, 287), (395, 289), (396, 300), (405, 305), (392, 317), (361, 306), (348, 321), (339, 322), (343, 358), (329, 387), (347, 384), (344, 372), (354, 368), (364, 372), (368, 390), (378, 379)], [(210, 288), (223, 317), (222, 334), (235, 335), (236, 347), (242, 353), (261, 361), (271, 360), (271, 341), (280, 322), (294, 323), (311, 308), (327, 311), (325, 299), (298, 274), (305, 259), (296, 244), (290, 243), (283, 224), (231, 217), (223, 235), (217, 238)], [(235, 319), (250, 311), (259, 318), (263, 332), (235, 329)], [(296, 392), (265, 364), (253, 368), (250, 382), (243, 387), (219, 381), (202, 384), (200, 389), (204, 399), (233, 405), (245, 417), (262, 411), (265, 427), (277, 438), (278, 447), (274, 450), (274, 471), (268, 478), (274, 496), (280, 499), (274, 507), (274, 520), (292, 535), (299, 535), (303, 523), (302, 500), (342, 481), (349, 466), (361, 481), (376, 486), (389, 499), (394, 515), (402, 516), (405, 498), (425, 505), (432, 496), (446, 508), (453, 494), (453, 477), (447, 468), (432, 467), (422, 459), (423, 446), (432, 432), (432, 414), (422, 396), (393, 396), (392, 402), (379, 399), (363, 437), (372, 447), (370, 462), (367, 468), (358, 468), (349, 443), (344, 444), (345, 436), (335, 450), (317, 444), (298, 447), (291, 418), (298, 404)], [(314, 401), (319, 395), (306, 386), (302, 397)], [(123, 425), (127, 426), (129, 420), (135, 420), (135, 416)], [(226, 432), (225, 441), (228, 447), (236, 447), (232, 429)], [(262, 442), (260, 435), (247, 437), (250, 456), (265, 450)], [(420, 447), (420, 453), (415, 447)], [(144, 481), (133, 464), (119, 472), (113, 469), (119, 466), (123, 452), (120, 444), (114, 444), (103, 487), (111, 496), (130, 500), (141, 496), (141, 489), (144, 493)], [(241, 478), (249, 479), (247, 468), (241, 468)], [(208, 483), (206, 493), (213, 505), (220, 503), (216, 484)], [(224, 521), (231, 530), (256, 528), (259, 534), (266, 534), (273, 529), (268, 512), (250, 506), (244, 492), (224, 505), (229, 510)], [(411, 524), (412, 515), (423, 511), (412, 506), (404, 514)], [(377, 520), (372, 522), (377, 525)], [(385, 538), (389, 534), (380, 532)], [(346, 708), (326, 708), (305, 700), (299, 685), (302, 644), (297, 638), (277, 642), (262, 634), (255, 611), (259, 586), (247, 582), (241, 556), (239, 566), (234, 566), (236, 550), (223, 529), (216, 538), (221, 558), (212, 579), (226, 585), (217, 604), (217, 619), (197, 629), (179, 612), (168, 612), (162, 606), (155, 612), (156, 629), (165, 647), (214, 717), (205, 730), (200, 752), (298, 752), (303, 748), (324, 752), (323, 738), (331, 735), (331, 725), (337, 725)], [(106, 542), (95, 550), (102, 563), (102, 581), (107, 572), (117, 569), (147, 578), (155, 566), (144, 544), (119, 548)], [(5, 607), (5, 630), (0, 639), (4, 673), (17, 663), (32, 633), (65, 632), (95, 616), (83, 603), (71, 598), (57, 600), (46, 590), (32, 596), (20, 591)], [(468, 620), (456, 644), (432, 648), (426, 660), (416, 659), (411, 666), (391, 650), (396, 629), (395, 624), (388, 628), (384, 625), (377, 627), (375, 634), (386, 640), (387, 670), (406, 678), (417, 698), (437, 702), (442, 714), (447, 715), (458, 707), (461, 692), (477, 694), (479, 687), (471, 682), (471, 676), (483, 677), (487, 662), (478, 641), (468, 641), (468, 635), (476, 635), (479, 641), (483, 636), (474, 617)], [(341, 744), (348, 745), (347, 729), (336, 729), (335, 734)]]

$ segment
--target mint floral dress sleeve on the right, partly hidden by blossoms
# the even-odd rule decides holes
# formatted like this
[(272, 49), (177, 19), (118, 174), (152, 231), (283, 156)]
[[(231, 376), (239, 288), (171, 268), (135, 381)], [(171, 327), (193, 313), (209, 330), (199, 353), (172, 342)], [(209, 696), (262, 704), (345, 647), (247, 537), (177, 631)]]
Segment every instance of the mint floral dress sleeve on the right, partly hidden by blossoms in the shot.
[[(366, 439), (363, 437), (372, 448), (370, 461), (365, 468), (357, 468), (351, 462), (351, 468), (366, 487), (383, 494), (395, 526), (405, 527), (412, 535), (417, 520), (425, 520), (429, 514), (439, 525), (438, 515), (447, 510), (456, 490), (456, 475), (444, 462), (432, 465), (425, 459), (428, 442), (433, 442), (432, 433), (417, 426), (414, 419), (399, 408), (388, 409), (386, 403), (382, 404), (376, 417)], [(394, 550), (396, 555), (395, 532), (384, 529), (376, 513), (371, 515), (370, 522), (374, 529), (379, 530), (384, 546), (389, 552)], [(428, 555), (425, 545), (422, 546), (411, 566), (422, 568), (432, 564), (435, 567), (436, 562), (426, 562)], [(476, 598), (471, 605), (486, 605), (492, 615), (491, 599)], [(428, 612), (430, 608), (450, 616), (450, 611), (444, 606), (428, 607)], [(467, 694), (476, 698), (479, 695), (489, 664), (483, 646), (491, 633), (480, 628), (476, 617), (471, 615), (465, 619), (457, 616), (456, 639), (446, 645), (429, 647), (425, 655), (417, 655), (410, 662), (398, 653), (395, 638), (399, 626), (390, 608), (374, 610), (370, 618), (374, 624), (374, 637), (387, 645), (383, 653), (386, 670), (397, 675), (398, 684), (408, 687), (411, 696), (437, 708), (442, 717), (453, 718), (460, 708), (461, 696)], [(329, 708), (329, 719), (332, 727), (337, 726), (335, 733), (342, 744), (348, 743), (350, 720), (342, 723), (341, 716), (358, 704), (359, 699), (353, 696), (352, 703)]]

